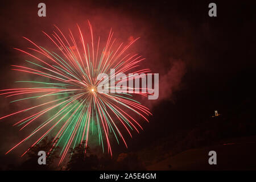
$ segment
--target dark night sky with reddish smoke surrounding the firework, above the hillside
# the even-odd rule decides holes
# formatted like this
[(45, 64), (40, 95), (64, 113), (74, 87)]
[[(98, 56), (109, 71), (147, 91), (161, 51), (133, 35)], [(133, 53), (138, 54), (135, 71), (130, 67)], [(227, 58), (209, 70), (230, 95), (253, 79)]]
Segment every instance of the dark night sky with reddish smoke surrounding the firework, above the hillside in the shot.
[[(150, 123), (143, 124), (142, 134), (127, 139), (129, 150), (193, 127), (214, 110), (225, 113), (243, 100), (255, 99), (255, 1), (213, 1), (217, 17), (208, 16), (212, 1), (42, 1), (46, 18), (37, 15), (39, 2), (1, 3), (0, 88), (15, 81), (10, 65), (23, 61), (13, 49), (26, 48), (22, 36), (43, 44), (41, 31), (52, 32), (53, 24), (65, 30), (76, 23), (86, 27), (89, 19), (96, 34), (112, 27), (122, 41), (141, 37), (135, 49), (146, 58), (147, 67), (160, 74), (168, 93), (160, 92), (159, 100), (150, 104)], [(170, 80), (164, 80), (165, 75)], [(1, 115), (11, 107), (3, 101)], [(0, 123), (1, 158), (10, 158), (3, 153), (22, 136), (8, 122)]]

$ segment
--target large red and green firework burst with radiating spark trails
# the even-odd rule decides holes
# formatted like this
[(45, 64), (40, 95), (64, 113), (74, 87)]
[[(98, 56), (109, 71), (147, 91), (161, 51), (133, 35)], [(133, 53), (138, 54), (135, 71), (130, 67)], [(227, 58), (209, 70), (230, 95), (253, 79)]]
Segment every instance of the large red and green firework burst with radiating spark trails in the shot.
[[(148, 96), (150, 93), (130, 93), (130, 90), (140, 88), (130, 88), (126, 86), (122, 86), (122, 88), (120, 86), (114, 86), (113, 88), (113, 86), (110, 85), (106, 88), (115, 89), (117, 91), (116, 93), (100, 93), (97, 92), (96, 89), (100, 82), (105, 82), (103, 78), (97, 80), (97, 76), (101, 73), (107, 73), (111, 82), (118, 73), (128, 73), (130, 71), (132, 74), (141, 74), (150, 72), (150, 69), (138, 69), (139, 63), (144, 60), (141, 56), (138, 56), (138, 54), (130, 55), (130, 53), (125, 53), (138, 39), (133, 40), (126, 46), (123, 46), (123, 43), (121, 43), (119, 46), (116, 46), (118, 47), (117, 49), (114, 49), (116, 39), (113, 40), (113, 31), (110, 30), (105, 47), (102, 48), (102, 52), (100, 53), (100, 37), (97, 40), (97, 45), (94, 46), (92, 25), (89, 21), (88, 23), (90, 30), (90, 42), (88, 43), (85, 42), (85, 35), (82, 34), (81, 28), (78, 25), (78, 42), (74, 38), (71, 30), (69, 30), (69, 38), (71, 41), (68, 41), (68, 38), (65, 37), (57, 26), (55, 27), (58, 33), (53, 31), (53, 34), (48, 35), (46, 32), (43, 32), (57, 47), (60, 54), (57, 54), (56, 51), (48, 51), (28, 38), (24, 39), (35, 46), (35, 48), (28, 48), (31, 52), (15, 48), (31, 56), (34, 61), (26, 60), (29, 66), (12, 65), (14, 67), (13, 70), (34, 75), (35, 78), (40, 78), (40, 80), (44, 78), (44, 80), (47, 81), (17, 81), (22, 84), (30, 83), (36, 86), (31, 88), (0, 90), (0, 95), (5, 95), (5, 97), (22, 97), (11, 102), (23, 100), (43, 102), (42, 104), (16, 111), (0, 118), (4, 119), (15, 114), (25, 113), (28, 110), (31, 111), (42, 108), (40, 111), (36, 111), (34, 114), (14, 124), (14, 126), (21, 126), (20, 130), (23, 130), (27, 126), (30, 126), (32, 122), (35, 122), (39, 118), (42, 119), (42, 122), (32, 133), (7, 151), (6, 154), (38, 133), (38, 131), (46, 129), (47, 131), (41, 134), (32, 146), (39, 143), (40, 140), (47, 135), (53, 134), (55, 136), (55, 142), (52, 143), (52, 148), (49, 152), (53, 151), (54, 147), (60, 146), (60, 142), (64, 143), (60, 154), (60, 164), (67, 155), (69, 147), (75, 147), (76, 144), (82, 143), (83, 140), (85, 140), (87, 146), (89, 130), (92, 130), (93, 133), (93, 126), (97, 126), (96, 131), (98, 132), (99, 144), (102, 145), (102, 150), (104, 151), (105, 138), (108, 152), (112, 155), (109, 138), (110, 133), (114, 134), (118, 144), (118, 138), (121, 138), (127, 147), (121, 128), (123, 127), (130, 137), (132, 137), (131, 130), (134, 129), (139, 133), (137, 127), (142, 129), (142, 126), (139, 124), (139, 121), (135, 119), (134, 115), (139, 115), (139, 118), (148, 122), (147, 116), (151, 114), (149, 109), (131, 97), (133, 94)], [(36, 55), (32, 52), (35, 52)], [(115, 73), (112, 74), (110, 69), (115, 69)], [(142, 77), (143, 76), (128, 76), (121, 81), (114, 81), (114, 84), (118, 82), (120, 84), (124, 81), (135, 80), (135, 78)], [(52, 97), (55, 98), (52, 99)], [(48, 98), (50, 101), (42, 101), (42, 98)], [(47, 116), (47, 114), (49, 116)], [(43, 121), (43, 115), (49, 118)], [(102, 134), (104, 134), (104, 137)], [(30, 150), (30, 148), (28, 148), (28, 150)], [(26, 154), (27, 151), (25, 151), (22, 156)]]

